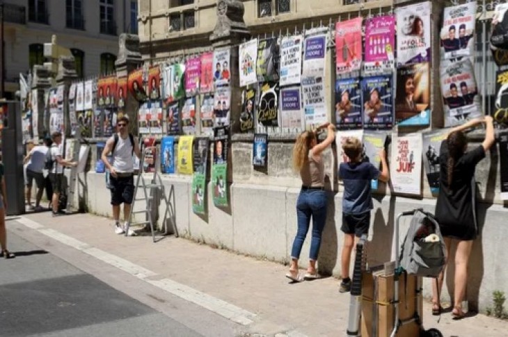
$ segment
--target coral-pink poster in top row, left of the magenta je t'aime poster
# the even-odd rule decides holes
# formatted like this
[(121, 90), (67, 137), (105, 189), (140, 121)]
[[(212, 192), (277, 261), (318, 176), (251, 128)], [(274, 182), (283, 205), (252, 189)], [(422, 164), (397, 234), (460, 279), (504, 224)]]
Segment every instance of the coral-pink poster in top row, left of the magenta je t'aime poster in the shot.
[(362, 64), (362, 17), (335, 24), (337, 74), (359, 70)]

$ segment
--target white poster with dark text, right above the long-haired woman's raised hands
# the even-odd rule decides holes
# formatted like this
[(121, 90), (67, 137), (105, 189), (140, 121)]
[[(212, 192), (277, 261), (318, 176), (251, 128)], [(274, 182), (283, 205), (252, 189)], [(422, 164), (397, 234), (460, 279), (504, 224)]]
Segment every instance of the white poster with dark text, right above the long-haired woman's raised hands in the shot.
[(323, 79), (324, 77), (303, 77), (301, 80), (305, 125), (327, 122)]

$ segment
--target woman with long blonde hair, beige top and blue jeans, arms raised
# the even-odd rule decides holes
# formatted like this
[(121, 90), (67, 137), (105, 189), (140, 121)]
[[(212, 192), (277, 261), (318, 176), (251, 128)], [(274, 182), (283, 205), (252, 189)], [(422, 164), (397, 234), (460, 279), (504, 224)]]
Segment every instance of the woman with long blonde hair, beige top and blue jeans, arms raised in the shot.
[(322, 152), (335, 140), (335, 126), (326, 123), (319, 126), (328, 129), (328, 135), (323, 142), (317, 141), (317, 132), (304, 131), (293, 147), (293, 167), (300, 173), (301, 190), (296, 201), (296, 216), (298, 230), (294, 238), (291, 251), (291, 263), (286, 277), (292, 281), (301, 281), (298, 261), (305, 236), (312, 217), (312, 240), (310, 242), (309, 266), (304, 279), (317, 279), (316, 261), (321, 246), (321, 236), (326, 223), (326, 204), (328, 203), (324, 190), (324, 162)]

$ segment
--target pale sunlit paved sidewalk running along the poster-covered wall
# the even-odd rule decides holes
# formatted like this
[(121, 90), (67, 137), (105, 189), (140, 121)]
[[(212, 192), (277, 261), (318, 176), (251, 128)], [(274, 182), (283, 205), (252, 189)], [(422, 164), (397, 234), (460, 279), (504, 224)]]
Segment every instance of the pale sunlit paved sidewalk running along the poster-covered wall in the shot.
[[(23, 218), (33, 220), (44, 228), (37, 229), (36, 224)], [(88, 249), (88, 254), (91, 254), (91, 249), (100, 249), (141, 266), (148, 270), (142, 272), (145, 274), (131, 274), (154, 285), (159, 284), (159, 288), (161, 279), (170, 280), (167, 282), (171, 286), (166, 282), (166, 288), (173, 287), (178, 291), (184, 288), (183, 292), (198, 290), (201, 293), (195, 292), (196, 296), (204, 297), (204, 293), (215, 298), (216, 302), (219, 299), (228, 302), (232, 311), (237, 307), (235, 312), (242, 313), (240, 318), (231, 319), (240, 323), (239, 331), (244, 336), (346, 335), (349, 294), (338, 293), (337, 279), (330, 277), (288, 283), (289, 280), (284, 277), (287, 271), (284, 265), (213, 249), (182, 238), (166, 237), (152, 243), (151, 236), (118, 236), (113, 233), (112, 220), (94, 215), (51, 217), (48, 212), (24, 215), (17, 221), (31, 225), (41, 235), (58, 238), (58, 233), (63, 233), (78, 240), (77, 247), (85, 243), (83, 249)], [(13, 223), (8, 224), (8, 229), (15, 231)], [(153, 273), (150, 274), (150, 271)], [(211, 302), (210, 299), (206, 301)], [(219, 303), (223, 306), (223, 302)], [(210, 304), (210, 308), (214, 310), (216, 307)], [(443, 336), (506, 336), (508, 329), (507, 321), (484, 315), (453, 321), (450, 313), (445, 313), (438, 323), (430, 311), (430, 304), (425, 303), (425, 329), (436, 327)]]

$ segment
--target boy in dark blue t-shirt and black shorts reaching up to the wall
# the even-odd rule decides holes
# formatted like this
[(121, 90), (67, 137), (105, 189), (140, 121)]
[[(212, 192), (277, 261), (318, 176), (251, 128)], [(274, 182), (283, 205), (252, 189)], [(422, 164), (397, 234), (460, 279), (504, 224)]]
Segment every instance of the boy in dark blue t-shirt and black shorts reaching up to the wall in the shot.
[(384, 149), (379, 152), (381, 172), (372, 163), (363, 160), (363, 146), (358, 138), (349, 137), (344, 140), (342, 149), (349, 158), (349, 163), (339, 165), (339, 179), (344, 182), (342, 227), (340, 227), (344, 232), (344, 246), (341, 261), (342, 282), (339, 291), (345, 293), (351, 290), (349, 262), (353, 245), (358, 242), (360, 236), (369, 232), (370, 211), (373, 208), (370, 181), (378, 179), (387, 182), (390, 175)]

